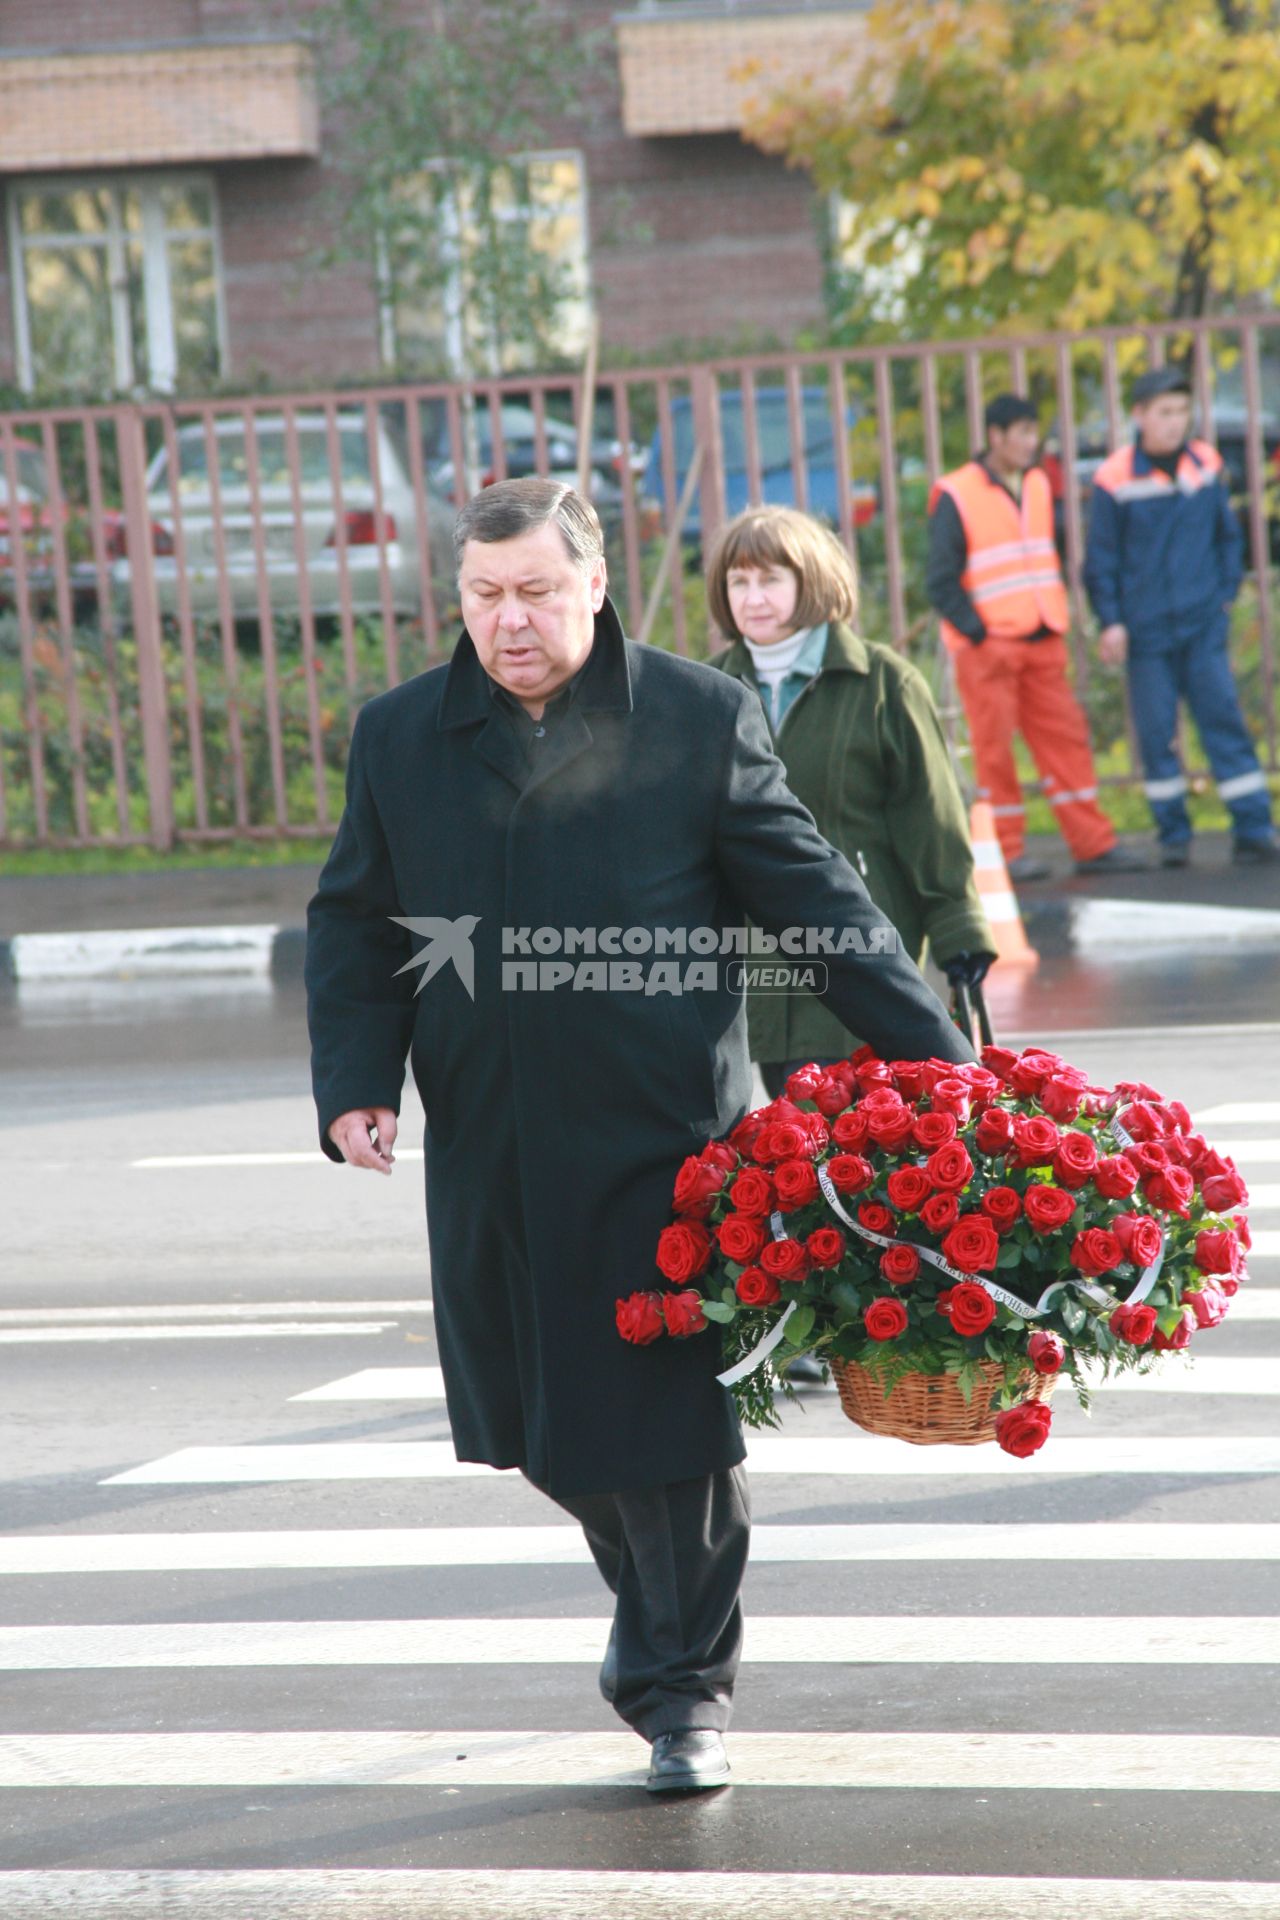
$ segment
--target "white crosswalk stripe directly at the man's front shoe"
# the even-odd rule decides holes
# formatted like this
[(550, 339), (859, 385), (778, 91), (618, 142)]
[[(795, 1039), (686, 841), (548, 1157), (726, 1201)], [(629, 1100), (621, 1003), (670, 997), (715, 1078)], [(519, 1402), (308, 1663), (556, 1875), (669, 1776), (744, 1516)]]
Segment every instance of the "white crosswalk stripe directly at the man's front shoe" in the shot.
[[(733, 1734), (737, 1788), (1278, 1793), (1253, 1734)], [(637, 1788), (635, 1734), (8, 1734), (0, 1788)]]

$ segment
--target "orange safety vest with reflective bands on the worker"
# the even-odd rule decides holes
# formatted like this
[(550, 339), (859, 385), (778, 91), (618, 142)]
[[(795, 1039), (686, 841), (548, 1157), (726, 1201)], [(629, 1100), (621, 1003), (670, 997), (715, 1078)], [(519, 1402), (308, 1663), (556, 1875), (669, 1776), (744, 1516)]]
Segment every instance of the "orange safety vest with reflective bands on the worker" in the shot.
[[(1017, 503), (979, 461), (969, 461), (938, 480), (938, 492), (956, 501), (969, 545), (960, 582), (986, 632), (996, 639), (1027, 639), (1044, 626), (1065, 634), (1071, 609), (1054, 545), (1048, 474), (1032, 467)], [(950, 620), (942, 622), (942, 639), (952, 649), (969, 645)]]

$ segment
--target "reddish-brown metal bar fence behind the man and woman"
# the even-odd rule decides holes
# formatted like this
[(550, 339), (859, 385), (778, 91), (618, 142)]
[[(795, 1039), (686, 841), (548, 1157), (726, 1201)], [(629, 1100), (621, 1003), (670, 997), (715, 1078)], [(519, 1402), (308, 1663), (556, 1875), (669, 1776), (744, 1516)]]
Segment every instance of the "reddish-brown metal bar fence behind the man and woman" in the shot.
[(581, 465), (628, 630), (677, 653), (716, 643), (699, 568), (725, 515), (825, 515), (858, 559), (867, 634), (944, 691), (929, 492), (1009, 388), (1040, 407), (1079, 678), (1103, 778), (1128, 780), (1079, 572), (1125, 382), (1167, 357), (1190, 367), (1238, 495), (1236, 666), (1276, 770), (1280, 317), (1259, 317), (633, 369), (601, 376), (589, 407), (555, 374), (4, 415), (0, 847), (332, 833), (361, 703), (453, 645), (457, 505), (518, 472)]

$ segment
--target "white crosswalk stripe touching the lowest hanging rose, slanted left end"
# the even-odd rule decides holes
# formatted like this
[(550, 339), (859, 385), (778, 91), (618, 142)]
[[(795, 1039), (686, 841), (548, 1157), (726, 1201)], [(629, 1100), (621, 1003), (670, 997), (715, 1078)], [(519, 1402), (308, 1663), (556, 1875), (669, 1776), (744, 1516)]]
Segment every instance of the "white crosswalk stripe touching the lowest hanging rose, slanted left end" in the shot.
[[(940, 1459), (935, 1455), (942, 1455)], [(1109, 1434), (1054, 1438), (1031, 1459), (986, 1446), (904, 1446), (881, 1434), (833, 1440), (756, 1438), (752, 1473), (885, 1475), (950, 1478), (975, 1475), (1163, 1473), (1280, 1475), (1280, 1434)], [(497, 1469), (455, 1459), (447, 1440), (336, 1440), (286, 1446), (192, 1446), (113, 1473), (102, 1486), (215, 1486), (280, 1480), (470, 1480)], [(503, 1469), (512, 1475), (516, 1469)]]

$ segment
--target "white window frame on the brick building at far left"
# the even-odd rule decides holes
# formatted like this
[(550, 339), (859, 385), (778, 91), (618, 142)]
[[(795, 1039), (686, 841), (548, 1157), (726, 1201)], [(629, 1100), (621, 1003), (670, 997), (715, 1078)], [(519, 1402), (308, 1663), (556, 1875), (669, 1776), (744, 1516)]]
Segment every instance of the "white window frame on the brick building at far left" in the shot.
[[(13, 348), (17, 361), (17, 384), (23, 392), (35, 392), (35, 359), (31, 351), (31, 315), (27, 311), (27, 246), (77, 248), (100, 246), (102, 242), (86, 234), (23, 234), (19, 217), (19, 194), (25, 192), (107, 192), (107, 280), (111, 288), (111, 348), (115, 363), (115, 390), (121, 394), (146, 390), (171, 394), (177, 386), (178, 344), (173, 330), (173, 300), (169, 280), (169, 228), (159, 207), (161, 186), (200, 186), (209, 194), (209, 227), (190, 228), (201, 238), (207, 234), (213, 244), (213, 324), (217, 330), (219, 372), (228, 371), (226, 357), (226, 288), (223, 280), (223, 223), (219, 217), (217, 179), (192, 167), (148, 169), (146, 173), (33, 173), (13, 175), (6, 180), (6, 221), (10, 242), (10, 296), (13, 303)], [(155, 192), (150, 192), (155, 190)], [(121, 221), (123, 192), (136, 192), (142, 200), (142, 303), (144, 334), (150, 351), (150, 367), (144, 374), (132, 365), (132, 326), (129, 313), (129, 284), (125, 275), (127, 228)], [(178, 228), (180, 232), (180, 228)]]

